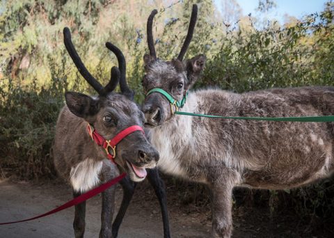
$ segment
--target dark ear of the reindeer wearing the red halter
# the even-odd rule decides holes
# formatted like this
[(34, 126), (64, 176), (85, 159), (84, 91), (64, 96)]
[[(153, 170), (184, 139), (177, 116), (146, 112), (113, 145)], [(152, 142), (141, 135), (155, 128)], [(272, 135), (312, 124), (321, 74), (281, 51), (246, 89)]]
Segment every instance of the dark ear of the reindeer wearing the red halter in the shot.
[(98, 101), (82, 93), (66, 92), (65, 100), (68, 109), (79, 118), (86, 119), (99, 111)]

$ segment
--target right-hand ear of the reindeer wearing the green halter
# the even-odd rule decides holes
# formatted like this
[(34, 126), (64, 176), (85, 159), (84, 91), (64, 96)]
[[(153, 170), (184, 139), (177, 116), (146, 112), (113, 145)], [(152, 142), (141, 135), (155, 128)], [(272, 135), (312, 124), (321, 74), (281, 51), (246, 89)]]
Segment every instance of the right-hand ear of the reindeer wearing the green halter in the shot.
[(207, 58), (203, 54), (199, 54), (186, 61), (186, 76), (188, 78), (188, 83), (186, 84), (186, 89), (189, 89), (193, 84), (195, 84), (200, 73), (203, 71), (205, 66), (205, 61)]

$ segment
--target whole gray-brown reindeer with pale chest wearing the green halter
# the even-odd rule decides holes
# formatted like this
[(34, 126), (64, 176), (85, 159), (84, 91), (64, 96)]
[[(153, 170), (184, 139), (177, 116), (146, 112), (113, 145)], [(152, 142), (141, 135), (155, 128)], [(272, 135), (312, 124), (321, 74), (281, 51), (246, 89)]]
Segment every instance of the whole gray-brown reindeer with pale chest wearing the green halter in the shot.
[(179, 107), (180, 111), (221, 116), (328, 116), (334, 115), (334, 88), (276, 88), (241, 94), (218, 89), (189, 92), (205, 66), (203, 55), (183, 61), (197, 7), (193, 6), (180, 54), (171, 61), (162, 61), (155, 54), (155, 14), (157, 10), (148, 18), (150, 55), (144, 56), (146, 125), (160, 154), (159, 169), (211, 189), (212, 237), (232, 234), (233, 187), (289, 189), (333, 173), (333, 122), (222, 120), (173, 112)]

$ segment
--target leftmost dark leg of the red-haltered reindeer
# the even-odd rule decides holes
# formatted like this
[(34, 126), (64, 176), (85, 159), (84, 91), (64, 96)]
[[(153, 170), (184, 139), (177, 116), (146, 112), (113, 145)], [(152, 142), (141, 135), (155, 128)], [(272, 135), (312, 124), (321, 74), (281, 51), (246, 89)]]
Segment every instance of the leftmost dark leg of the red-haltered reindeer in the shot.
[[(81, 195), (80, 192), (73, 191), (74, 198), (77, 198), (80, 195)], [(84, 237), (85, 225), (86, 225), (85, 216), (86, 216), (86, 201), (74, 207), (73, 228), (74, 228), (75, 238)]]

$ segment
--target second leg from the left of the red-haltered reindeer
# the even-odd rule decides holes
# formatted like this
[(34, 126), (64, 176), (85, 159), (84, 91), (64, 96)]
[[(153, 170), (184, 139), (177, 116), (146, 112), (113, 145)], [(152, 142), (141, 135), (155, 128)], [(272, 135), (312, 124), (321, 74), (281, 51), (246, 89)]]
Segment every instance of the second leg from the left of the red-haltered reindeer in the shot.
[[(101, 182), (108, 182), (119, 175), (118, 168), (111, 164), (110, 161), (104, 161), (101, 173)], [(102, 192), (102, 213), (101, 213), (101, 230), (100, 238), (112, 237), (111, 225), (113, 223), (113, 212), (115, 208), (116, 186), (112, 186)]]

